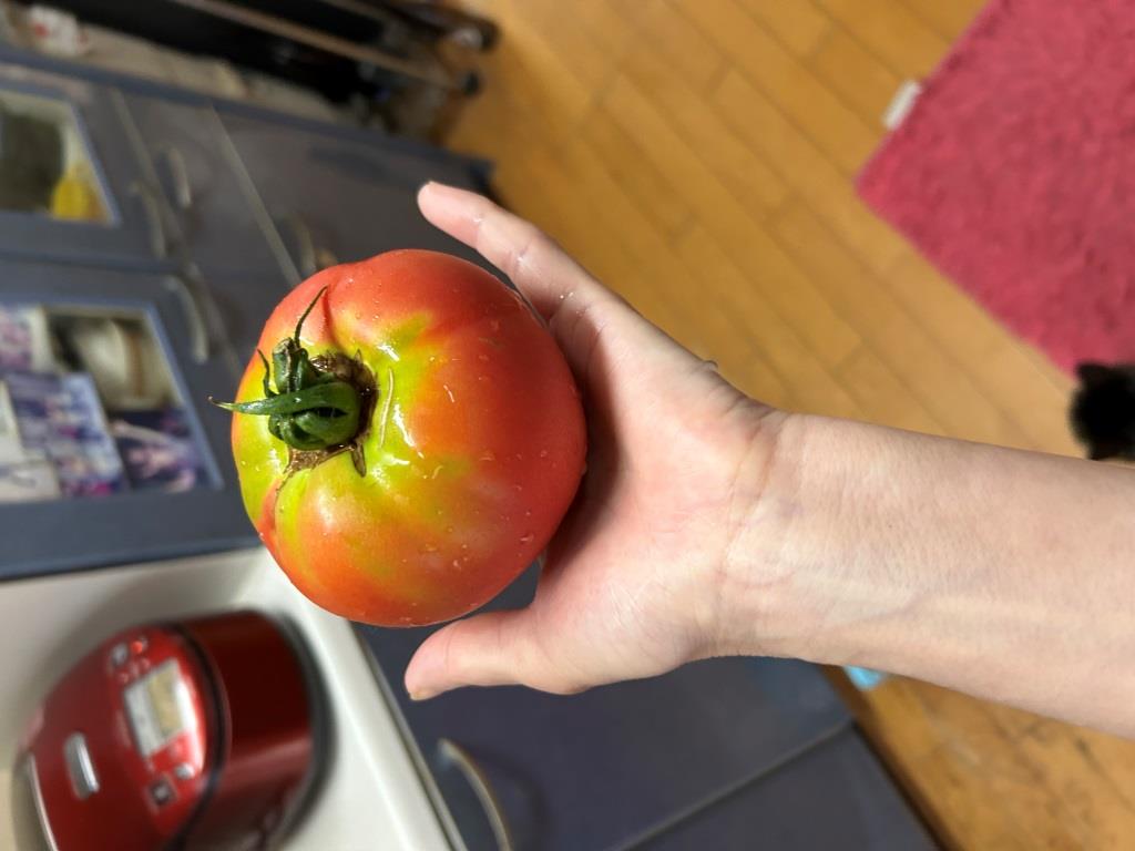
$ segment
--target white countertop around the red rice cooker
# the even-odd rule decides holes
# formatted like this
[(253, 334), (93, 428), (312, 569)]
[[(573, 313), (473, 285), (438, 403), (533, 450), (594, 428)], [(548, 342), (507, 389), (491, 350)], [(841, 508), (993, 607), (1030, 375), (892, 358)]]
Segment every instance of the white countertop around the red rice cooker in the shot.
[(19, 733), (54, 681), (106, 635), (148, 621), (253, 607), (286, 615), (319, 663), (331, 706), (328, 770), (288, 851), (448, 849), (352, 625), (300, 595), (266, 550), (0, 582), (0, 851)]

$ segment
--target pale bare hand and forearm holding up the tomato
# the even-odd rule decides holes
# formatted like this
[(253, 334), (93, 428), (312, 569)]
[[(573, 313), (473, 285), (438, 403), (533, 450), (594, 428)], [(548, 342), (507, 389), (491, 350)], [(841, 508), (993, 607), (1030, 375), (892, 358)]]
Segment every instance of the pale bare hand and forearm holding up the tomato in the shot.
[(591, 448), (532, 604), (434, 633), (412, 697), (763, 655), (1135, 736), (1135, 473), (773, 410), (532, 225), (437, 184), (419, 204), (544, 315)]

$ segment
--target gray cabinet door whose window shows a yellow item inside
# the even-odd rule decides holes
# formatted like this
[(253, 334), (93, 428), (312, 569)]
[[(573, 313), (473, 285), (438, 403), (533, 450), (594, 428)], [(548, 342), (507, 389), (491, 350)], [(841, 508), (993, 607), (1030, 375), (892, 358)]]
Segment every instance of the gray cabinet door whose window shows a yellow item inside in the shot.
[(138, 166), (117, 92), (0, 62), (0, 254), (167, 260), (160, 199)]

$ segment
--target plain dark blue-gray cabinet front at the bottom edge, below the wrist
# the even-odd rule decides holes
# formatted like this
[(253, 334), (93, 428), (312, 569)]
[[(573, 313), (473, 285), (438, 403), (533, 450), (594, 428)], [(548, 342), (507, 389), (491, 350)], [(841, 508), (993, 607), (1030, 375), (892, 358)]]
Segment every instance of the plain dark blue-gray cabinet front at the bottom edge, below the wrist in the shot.
[(934, 841), (848, 730), (637, 848), (922, 851)]

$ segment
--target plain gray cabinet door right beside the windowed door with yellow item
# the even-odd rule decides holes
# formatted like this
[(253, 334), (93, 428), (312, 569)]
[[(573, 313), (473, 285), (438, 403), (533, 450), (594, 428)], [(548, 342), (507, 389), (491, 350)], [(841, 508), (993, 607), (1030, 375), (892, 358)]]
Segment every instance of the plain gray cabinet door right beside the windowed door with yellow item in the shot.
[(205, 101), (124, 98), (188, 259), (207, 277), (276, 278), (277, 289), (286, 292), (289, 263), (283, 244), (213, 108)]

